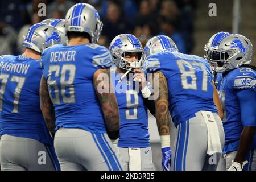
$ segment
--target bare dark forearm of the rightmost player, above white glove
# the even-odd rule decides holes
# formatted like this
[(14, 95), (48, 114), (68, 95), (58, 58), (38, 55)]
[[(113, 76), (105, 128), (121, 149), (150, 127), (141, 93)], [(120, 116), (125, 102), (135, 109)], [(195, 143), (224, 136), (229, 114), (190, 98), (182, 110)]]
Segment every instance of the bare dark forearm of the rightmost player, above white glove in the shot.
[(243, 128), (239, 141), (237, 155), (236, 158), (234, 159), (234, 162), (242, 164), (242, 162), (245, 160), (246, 154), (250, 149), (251, 143), (253, 143), (255, 129), (256, 127), (254, 126), (246, 126)]

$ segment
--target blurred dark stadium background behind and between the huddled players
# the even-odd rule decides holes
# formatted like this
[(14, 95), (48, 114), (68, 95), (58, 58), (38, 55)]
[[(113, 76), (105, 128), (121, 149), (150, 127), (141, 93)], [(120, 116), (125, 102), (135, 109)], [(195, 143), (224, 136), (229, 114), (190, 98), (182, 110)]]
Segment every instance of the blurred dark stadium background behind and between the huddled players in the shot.
[[(46, 17), (38, 16), (38, 4), (46, 4)], [(0, 1), (0, 55), (19, 55), (23, 51), (23, 35), (35, 23), (47, 18), (65, 18), (75, 3), (90, 3), (104, 22), (99, 44), (109, 47), (122, 33), (137, 36), (143, 46), (152, 36), (170, 36), (180, 52), (204, 55), (204, 45), (218, 31), (238, 32), (256, 43), (255, 0), (9, 0)], [(210, 17), (208, 7), (216, 3), (216, 15)], [(256, 65), (256, 48), (253, 64)], [(175, 129), (171, 129), (174, 143)], [(148, 127), (155, 169), (161, 170), (160, 139), (154, 117)]]

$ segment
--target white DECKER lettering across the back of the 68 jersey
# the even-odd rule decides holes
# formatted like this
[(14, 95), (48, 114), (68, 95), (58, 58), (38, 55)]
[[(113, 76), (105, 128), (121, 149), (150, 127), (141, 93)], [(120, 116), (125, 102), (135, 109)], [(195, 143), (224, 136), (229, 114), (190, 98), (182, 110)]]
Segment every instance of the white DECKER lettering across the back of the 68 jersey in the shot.
[(50, 62), (75, 61), (76, 51), (51, 52)]

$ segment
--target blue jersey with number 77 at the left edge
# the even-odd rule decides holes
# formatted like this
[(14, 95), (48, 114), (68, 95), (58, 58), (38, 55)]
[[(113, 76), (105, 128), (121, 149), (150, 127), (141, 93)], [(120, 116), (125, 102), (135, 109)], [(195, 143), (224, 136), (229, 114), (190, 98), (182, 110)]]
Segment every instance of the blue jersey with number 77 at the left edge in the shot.
[(52, 138), (40, 110), (40, 60), (3, 55), (0, 67), (0, 135), (51, 144)]

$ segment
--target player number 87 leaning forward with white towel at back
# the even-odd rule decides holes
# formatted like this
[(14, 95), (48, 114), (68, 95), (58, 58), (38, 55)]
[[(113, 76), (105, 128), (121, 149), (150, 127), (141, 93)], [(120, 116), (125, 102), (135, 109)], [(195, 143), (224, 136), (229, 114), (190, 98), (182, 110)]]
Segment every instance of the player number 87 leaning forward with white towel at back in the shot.
[(174, 150), (167, 155), (172, 158), (171, 169), (215, 170), (222, 157), (224, 130), (216, 107), (220, 100), (207, 61), (179, 53), (167, 36), (148, 40), (143, 55), (146, 73), (158, 77), (151, 84), (158, 95), (155, 115), (162, 140), (170, 143), (170, 114), (177, 128)]

